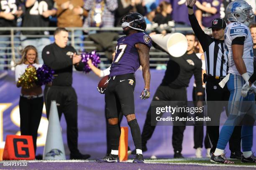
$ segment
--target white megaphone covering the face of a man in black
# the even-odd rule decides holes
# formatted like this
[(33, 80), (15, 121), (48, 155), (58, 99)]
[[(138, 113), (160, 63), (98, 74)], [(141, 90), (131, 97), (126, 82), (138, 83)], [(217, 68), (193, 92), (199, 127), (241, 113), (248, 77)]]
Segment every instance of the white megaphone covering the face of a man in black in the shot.
[(187, 51), (187, 38), (181, 33), (155, 34), (150, 37), (173, 57), (181, 57)]

